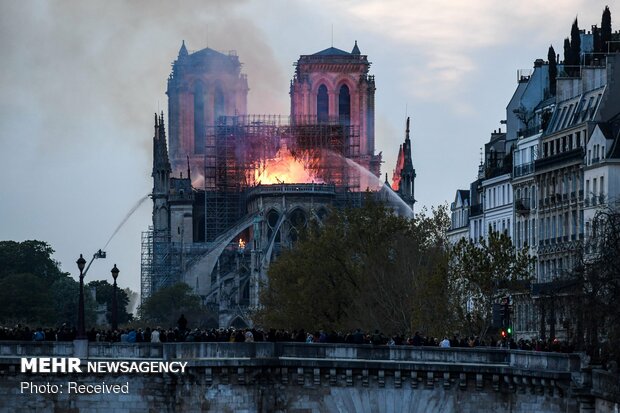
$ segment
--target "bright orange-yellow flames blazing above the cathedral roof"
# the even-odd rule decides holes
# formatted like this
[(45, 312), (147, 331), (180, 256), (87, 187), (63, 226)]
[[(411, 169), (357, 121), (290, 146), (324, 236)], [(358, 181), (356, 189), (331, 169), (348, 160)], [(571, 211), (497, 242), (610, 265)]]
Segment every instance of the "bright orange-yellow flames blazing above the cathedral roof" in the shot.
[(295, 159), (286, 146), (278, 150), (275, 158), (261, 165), (255, 171), (254, 177), (254, 182), (262, 185), (323, 183), (306, 170), (304, 164)]

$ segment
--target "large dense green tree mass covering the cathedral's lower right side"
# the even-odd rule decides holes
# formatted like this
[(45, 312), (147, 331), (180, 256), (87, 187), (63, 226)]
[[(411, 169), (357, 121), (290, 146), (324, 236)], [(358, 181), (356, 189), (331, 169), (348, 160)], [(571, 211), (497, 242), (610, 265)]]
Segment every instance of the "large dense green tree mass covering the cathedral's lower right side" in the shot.
[(442, 320), (448, 225), (445, 207), (414, 220), (372, 200), (332, 211), (271, 265), (255, 321), (307, 330), (435, 328), (426, 314)]

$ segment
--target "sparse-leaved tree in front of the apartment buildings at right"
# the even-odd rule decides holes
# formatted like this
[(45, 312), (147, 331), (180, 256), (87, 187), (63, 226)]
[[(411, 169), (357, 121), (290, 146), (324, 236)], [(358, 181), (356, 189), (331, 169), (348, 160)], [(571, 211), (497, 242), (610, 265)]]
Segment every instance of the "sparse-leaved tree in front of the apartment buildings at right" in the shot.
[(492, 321), (492, 304), (500, 296), (524, 291), (531, 279), (533, 258), (517, 251), (505, 233), (490, 231), (476, 244), (461, 239), (452, 249), (450, 284), (459, 315), (470, 333), (485, 335)]

